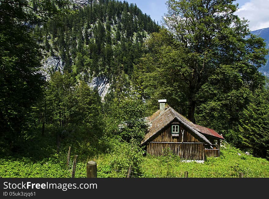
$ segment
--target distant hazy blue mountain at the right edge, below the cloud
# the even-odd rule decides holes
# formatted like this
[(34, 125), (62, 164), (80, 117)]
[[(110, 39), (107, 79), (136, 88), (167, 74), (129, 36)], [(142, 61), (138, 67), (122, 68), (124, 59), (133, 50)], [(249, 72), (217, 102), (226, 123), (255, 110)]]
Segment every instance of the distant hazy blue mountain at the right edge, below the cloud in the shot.
[[(251, 31), (252, 34), (260, 36), (266, 42), (266, 48), (269, 48), (269, 28), (263, 28), (259, 30)], [(266, 55), (265, 58), (267, 59), (266, 65), (259, 68), (259, 71), (263, 73), (263, 75), (269, 77), (269, 55)]]

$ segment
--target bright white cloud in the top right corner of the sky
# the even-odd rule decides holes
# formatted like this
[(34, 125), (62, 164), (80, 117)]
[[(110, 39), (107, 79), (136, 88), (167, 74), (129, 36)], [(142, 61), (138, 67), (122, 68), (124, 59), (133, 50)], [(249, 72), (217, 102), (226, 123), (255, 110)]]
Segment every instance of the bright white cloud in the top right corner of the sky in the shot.
[(248, 20), (250, 30), (269, 27), (269, 0), (250, 0), (236, 12), (240, 18)]

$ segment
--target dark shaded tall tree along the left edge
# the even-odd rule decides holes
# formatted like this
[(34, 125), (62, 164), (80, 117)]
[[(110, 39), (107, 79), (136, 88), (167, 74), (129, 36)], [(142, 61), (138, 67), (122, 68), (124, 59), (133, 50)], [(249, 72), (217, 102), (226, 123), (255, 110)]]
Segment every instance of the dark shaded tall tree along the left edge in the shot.
[(0, 136), (12, 148), (44, 83), (38, 72), (41, 46), (32, 37), (33, 27), (57, 14), (56, 5), (64, 1), (0, 1)]

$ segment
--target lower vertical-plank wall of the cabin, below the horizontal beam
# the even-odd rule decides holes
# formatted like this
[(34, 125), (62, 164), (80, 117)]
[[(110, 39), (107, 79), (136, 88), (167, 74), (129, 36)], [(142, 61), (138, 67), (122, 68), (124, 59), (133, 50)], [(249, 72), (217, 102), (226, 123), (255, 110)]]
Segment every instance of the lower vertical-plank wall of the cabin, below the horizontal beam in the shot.
[(161, 143), (149, 142), (147, 153), (151, 155), (163, 155), (165, 147), (170, 147), (171, 151), (181, 159), (205, 160), (205, 147), (203, 143)]

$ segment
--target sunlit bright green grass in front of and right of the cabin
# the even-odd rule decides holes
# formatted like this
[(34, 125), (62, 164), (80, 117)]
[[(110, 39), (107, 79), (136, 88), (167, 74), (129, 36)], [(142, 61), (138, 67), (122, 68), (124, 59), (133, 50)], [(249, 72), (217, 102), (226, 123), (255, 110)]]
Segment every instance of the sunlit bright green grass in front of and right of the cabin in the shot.
[(267, 160), (245, 155), (230, 145), (221, 147), (219, 158), (208, 157), (204, 164), (180, 162), (176, 157), (170, 158), (167, 164), (165, 157), (147, 155), (141, 167), (144, 177), (184, 177), (185, 171), (191, 178), (234, 178), (240, 172), (246, 178), (269, 177)]

